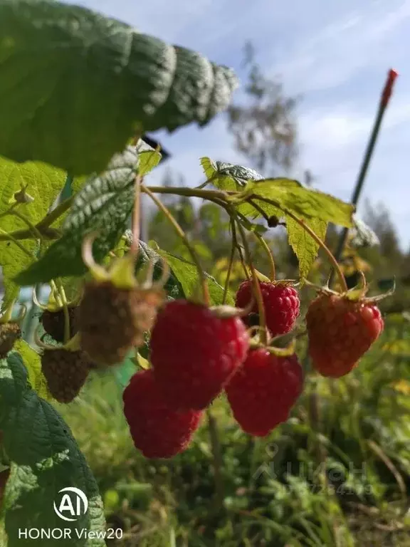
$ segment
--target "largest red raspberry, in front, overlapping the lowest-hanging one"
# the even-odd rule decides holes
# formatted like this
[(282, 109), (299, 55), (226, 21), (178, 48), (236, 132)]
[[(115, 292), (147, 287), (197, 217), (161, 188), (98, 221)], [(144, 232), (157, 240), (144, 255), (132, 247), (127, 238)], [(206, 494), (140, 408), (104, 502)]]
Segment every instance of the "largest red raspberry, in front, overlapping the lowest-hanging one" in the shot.
[(243, 363), (248, 342), (237, 317), (186, 300), (167, 303), (152, 329), (151, 363), (169, 405), (206, 408)]

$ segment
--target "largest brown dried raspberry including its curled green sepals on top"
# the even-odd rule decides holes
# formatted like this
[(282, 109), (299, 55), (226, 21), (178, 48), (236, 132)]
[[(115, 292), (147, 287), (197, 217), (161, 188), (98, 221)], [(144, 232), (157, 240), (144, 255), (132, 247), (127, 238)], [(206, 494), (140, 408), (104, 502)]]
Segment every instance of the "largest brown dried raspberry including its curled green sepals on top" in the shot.
[(152, 282), (153, 264), (142, 286), (135, 278), (137, 249), (115, 259), (109, 269), (95, 264), (93, 241), (89, 234), (83, 241), (83, 261), (93, 281), (85, 283), (79, 310), (81, 348), (98, 365), (121, 363), (132, 348), (144, 344), (157, 308), (166, 299), (164, 283), (169, 268), (164, 264), (162, 278)]

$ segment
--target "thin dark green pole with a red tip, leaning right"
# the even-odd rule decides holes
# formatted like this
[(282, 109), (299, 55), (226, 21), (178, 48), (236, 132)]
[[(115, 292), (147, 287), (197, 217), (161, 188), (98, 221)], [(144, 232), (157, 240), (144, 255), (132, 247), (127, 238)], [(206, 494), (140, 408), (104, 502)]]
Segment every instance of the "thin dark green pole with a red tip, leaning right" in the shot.
[[(352, 195), (352, 205), (354, 206), (356, 206), (357, 202), (359, 202), (359, 197), (363, 189), (364, 179), (366, 178), (366, 174), (369, 169), (370, 160), (372, 159), (372, 155), (374, 152), (374, 145), (376, 144), (377, 137), (379, 136), (379, 131), (382, 125), (384, 113), (386, 112), (387, 105), (389, 104), (389, 100), (391, 98), (391, 91), (393, 90), (393, 84), (397, 76), (398, 76), (398, 73), (394, 71), (392, 68), (389, 70), (389, 73), (387, 74), (387, 80), (386, 80), (386, 83), (384, 84), (382, 96), (379, 101), (379, 109), (377, 110), (376, 119), (374, 120), (372, 133), (370, 134), (369, 142), (367, 144), (367, 149), (366, 149), (366, 152), (364, 153), (362, 166), (359, 171), (359, 176), (357, 177), (357, 182), (354, 187), (354, 192)], [(349, 232), (349, 229), (344, 228), (342, 230), (342, 234), (340, 234), (339, 243), (335, 251), (335, 259), (337, 260), (337, 262), (340, 261), (340, 257), (342, 256), (342, 251), (345, 248), (348, 232)], [(332, 285), (334, 275), (335, 275), (335, 271), (332, 269), (330, 273), (330, 278), (329, 278), (329, 286)]]

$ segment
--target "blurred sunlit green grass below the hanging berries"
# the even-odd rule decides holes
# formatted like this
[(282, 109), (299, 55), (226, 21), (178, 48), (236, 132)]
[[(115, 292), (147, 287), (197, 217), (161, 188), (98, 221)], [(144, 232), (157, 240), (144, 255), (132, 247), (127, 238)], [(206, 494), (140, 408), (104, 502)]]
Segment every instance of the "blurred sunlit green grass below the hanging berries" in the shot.
[(95, 373), (59, 410), (95, 473), (109, 523), (125, 530), (122, 546), (406, 547), (409, 363), (409, 323), (392, 316), (352, 374), (309, 374), (292, 417), (266, 439), (243, 434), (217, 400), (224, 510), (214, 500), (206, 420), (186, 452), (147, 461), (132, 445), (113, 373)]

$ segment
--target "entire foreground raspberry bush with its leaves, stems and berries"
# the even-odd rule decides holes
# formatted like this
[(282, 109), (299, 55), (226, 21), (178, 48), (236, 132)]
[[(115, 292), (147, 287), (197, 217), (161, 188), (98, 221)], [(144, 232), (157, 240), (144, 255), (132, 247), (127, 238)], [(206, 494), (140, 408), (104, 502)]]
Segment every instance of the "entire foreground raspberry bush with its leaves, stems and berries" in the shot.
[[(233, 253), (221, 286), (159, 199), (169, 189), (149, 186), (161, 154), (142, 131), (206, 125), (236, 88), (230, 69), (46, 0), (0, 0), (0, 36), (0, 429), (9, 467), (1, 499), (13, 547), (26, 544), (19, 527), (58, 527), (53, 500), (66, 486), (89, 501), (87, 514), (67, 526), (105, 529), (95, 479), (56, 410), (56, 402), (78, 396), (89, 375), (134, 360), (123, 395), (130, 436), (145, 457), (169, 458), (189, 450), (202, 417), (216, 444), (211, 407), (225, 393), (238, 427), (266, 436), (288, 419), (305, 375), (348, 373), (383, 320), (366, 283), (347, 290), (323, 243), (329, 222), (352, 226), (352, 205), (292, 179), (265, 179), (203, 157), (204, 184), (172, 193), (208, 200), (229, 215)], [(140, 241), (141, 194), (177, 232), (189, 261)], [(263, 239), (273, 217), (286, 226), (298, 279), (275, 279)], [(268, 253), (270, 278), (253, 264), (250, 241)], [(300, 293), (320, 247), (339, 288), (316, 288), (306, 316), (312, 368), (303, 370)], [(236, 257), (243, 283), (234, 294)], [(46, 303), (38, 302), (40, 286), (49, 289)], [(41, 307), (32, 345), (21, 338), (21, 287), (32, 287)], [(142, 355), (148, 370), (140, 370)], [(216, 457), (214, 465), (218, 481)], [(53, 540), (43, 540), (48, 544)], [(105, 541), (58, 542), (73, 544)]]

